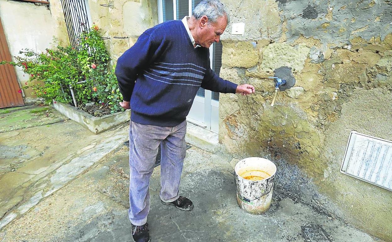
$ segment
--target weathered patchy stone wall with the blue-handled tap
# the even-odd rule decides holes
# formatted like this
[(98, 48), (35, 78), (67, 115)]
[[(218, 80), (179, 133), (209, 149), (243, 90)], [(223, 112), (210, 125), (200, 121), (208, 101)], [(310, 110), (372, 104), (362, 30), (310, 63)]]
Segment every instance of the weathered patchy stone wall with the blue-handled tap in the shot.
[[(227, 27), (220, 75), (256, 93), (220, 96), (220, 142), (276, 162), (280, 191), (392, 241), (392, 192), (339, 172), (350, 131), (392, 140), (391, 2), (222, 2), (245, 34)], [(271, 107), (283, 66), (296, 85)]]

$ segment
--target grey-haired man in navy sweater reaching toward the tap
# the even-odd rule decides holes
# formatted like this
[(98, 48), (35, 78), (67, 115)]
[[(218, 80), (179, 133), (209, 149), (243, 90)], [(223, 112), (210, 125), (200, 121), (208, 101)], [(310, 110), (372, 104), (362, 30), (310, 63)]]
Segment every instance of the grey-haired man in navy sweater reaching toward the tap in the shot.
[(209, 47), (219, 42), (229, 22), (219, 0), (203, 0), (192, 17), (147, 29), (118, 58), (116, 76), (123, 102), (131, 109), (129, 130), (129, 220), (136, 242), (150, 240), (149, 179), (161, 146), (160, 198), (189, 211), (191, 200), (178, 195), (186, 153), (185, 118), (199, 87), (221, 93), (254, 93), (248, 84), (219, 78), (210, 68)]

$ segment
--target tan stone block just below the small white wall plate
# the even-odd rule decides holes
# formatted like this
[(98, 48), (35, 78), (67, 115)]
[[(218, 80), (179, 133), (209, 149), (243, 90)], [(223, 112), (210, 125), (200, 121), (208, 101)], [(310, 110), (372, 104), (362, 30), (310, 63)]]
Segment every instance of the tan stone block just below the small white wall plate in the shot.
[(259, 52), (256, 42), (223, 42), (222, 66), (249, 68), (252, 66), (256, 66), (258, 64), (258, 61)]

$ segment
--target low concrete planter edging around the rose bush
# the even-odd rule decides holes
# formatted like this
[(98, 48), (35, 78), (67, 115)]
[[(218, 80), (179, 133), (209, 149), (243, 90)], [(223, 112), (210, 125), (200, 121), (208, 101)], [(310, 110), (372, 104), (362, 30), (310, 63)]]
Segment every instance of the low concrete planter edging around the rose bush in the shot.
[(102, 133), (103, 131), (123, 124), (129, 121), (131, 118), (131, 111), (129, 110), (108, 114), (102, 117), (94, 117), (93, 115), (90, 115), (85, 111), (77, 109), (76, 107), (69, 104), (52, 102), (52, 105), (54, 109), (62, 113), (62, 115), (74, 120), (75, 122), (78, 122), (94, 134)]

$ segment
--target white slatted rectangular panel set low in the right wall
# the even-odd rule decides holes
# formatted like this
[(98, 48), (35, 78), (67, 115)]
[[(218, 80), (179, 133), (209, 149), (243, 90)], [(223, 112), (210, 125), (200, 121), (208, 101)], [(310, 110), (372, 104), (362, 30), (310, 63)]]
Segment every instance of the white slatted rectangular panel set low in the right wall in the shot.
[(340, 171), (392, 191), (392, 142), (351, 131)]

